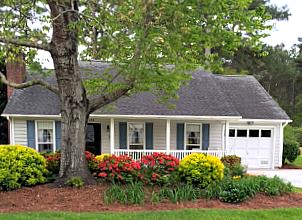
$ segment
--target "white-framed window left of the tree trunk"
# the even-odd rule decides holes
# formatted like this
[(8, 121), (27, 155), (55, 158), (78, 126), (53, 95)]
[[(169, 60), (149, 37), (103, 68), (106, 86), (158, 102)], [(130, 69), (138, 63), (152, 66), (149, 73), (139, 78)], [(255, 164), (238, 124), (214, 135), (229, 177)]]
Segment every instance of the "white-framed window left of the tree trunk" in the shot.
[(52, 152), (54, 150), (54, 130), (52, 121), (37, 121), (38, 151)]

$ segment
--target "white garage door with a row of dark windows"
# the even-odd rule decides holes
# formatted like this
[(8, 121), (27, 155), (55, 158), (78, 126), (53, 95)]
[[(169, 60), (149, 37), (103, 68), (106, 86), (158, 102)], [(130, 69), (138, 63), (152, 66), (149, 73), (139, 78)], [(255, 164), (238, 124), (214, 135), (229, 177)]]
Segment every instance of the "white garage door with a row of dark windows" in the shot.
[(273, 136), (273, 128), (230, 127), (227, 153), (248, 168), (271, 168)]

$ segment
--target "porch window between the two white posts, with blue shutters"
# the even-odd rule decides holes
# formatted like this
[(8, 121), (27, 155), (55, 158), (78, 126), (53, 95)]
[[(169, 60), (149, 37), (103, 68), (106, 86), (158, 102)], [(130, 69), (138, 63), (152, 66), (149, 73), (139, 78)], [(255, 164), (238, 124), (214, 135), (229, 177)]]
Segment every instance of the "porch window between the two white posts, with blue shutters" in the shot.
[(144, 149), (145, 126), (144, 123), (128, 123), (129, 149)]

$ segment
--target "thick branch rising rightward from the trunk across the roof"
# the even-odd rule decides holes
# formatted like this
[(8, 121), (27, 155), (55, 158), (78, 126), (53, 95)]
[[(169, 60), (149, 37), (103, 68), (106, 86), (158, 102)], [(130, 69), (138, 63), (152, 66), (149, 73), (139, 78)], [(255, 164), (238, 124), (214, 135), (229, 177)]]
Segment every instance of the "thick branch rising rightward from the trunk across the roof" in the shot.
[(134, 81), (128, 81), (128, 84), (125, 88), (118, 89), (107, 95), (99, 95), (89, 99), (89, 109), (88, 109), (89, 114), (107, 104), (116, 101), (120, 97), (126, 95), (127, 92), (129, 92), (129, 90), (131, 90), (133, 87), (134, 87)]

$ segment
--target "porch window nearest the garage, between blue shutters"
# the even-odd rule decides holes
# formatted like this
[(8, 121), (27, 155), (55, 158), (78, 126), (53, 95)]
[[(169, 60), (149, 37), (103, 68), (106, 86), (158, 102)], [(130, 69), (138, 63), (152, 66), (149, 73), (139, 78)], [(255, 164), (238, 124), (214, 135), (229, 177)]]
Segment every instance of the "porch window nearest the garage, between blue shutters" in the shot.
[(186, 124), (186, 149), (200, 149), (200, 124)]

